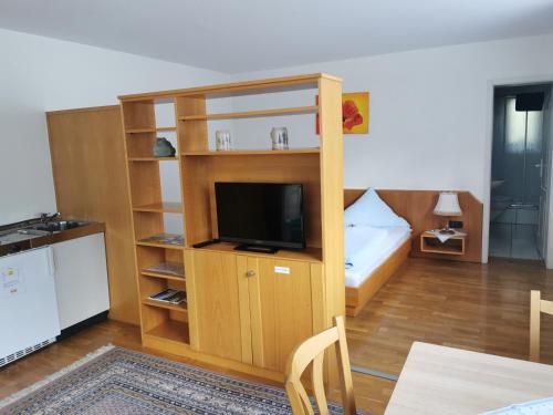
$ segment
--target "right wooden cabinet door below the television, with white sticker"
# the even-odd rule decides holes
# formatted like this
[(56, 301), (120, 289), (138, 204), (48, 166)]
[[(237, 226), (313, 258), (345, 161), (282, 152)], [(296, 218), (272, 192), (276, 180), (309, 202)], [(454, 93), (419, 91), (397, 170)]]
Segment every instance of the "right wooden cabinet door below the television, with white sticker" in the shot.
[(283, 372), (290, 352), (313, 334), (307, 262), (249, 258), (253, 364)]

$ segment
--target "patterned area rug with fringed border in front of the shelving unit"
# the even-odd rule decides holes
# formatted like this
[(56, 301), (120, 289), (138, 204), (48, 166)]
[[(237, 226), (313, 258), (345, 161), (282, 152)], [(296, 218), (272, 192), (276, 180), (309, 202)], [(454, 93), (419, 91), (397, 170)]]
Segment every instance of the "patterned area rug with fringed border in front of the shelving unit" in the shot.
[[(331, 414), (342, 414), (338, 405)], [(0, 414), (291, 414), (283, 390), (104, 346), (0, 402)]]

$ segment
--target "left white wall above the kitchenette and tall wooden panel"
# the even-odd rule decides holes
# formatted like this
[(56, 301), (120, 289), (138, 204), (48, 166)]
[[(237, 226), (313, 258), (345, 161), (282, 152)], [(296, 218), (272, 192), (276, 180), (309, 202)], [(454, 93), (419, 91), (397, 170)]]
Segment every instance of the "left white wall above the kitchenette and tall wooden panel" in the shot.
[[(0, 51), (0, 224), (56, 209), (45, 111), (116, 104), (119, 94), (228, 80), (212, 71), (1, 29)], [(168, 187), (169, 197), (179, 200), (170, 196), (178, 186)]]

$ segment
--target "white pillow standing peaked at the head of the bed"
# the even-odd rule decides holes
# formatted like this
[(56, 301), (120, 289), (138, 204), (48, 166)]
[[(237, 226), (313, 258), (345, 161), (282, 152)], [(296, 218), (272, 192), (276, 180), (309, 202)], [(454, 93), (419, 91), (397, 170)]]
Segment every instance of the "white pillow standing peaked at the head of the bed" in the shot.
[(369, 188), (344, 212), (345, 226), (374, 226), (378, 228), (410, 228), (407, 220), (397, 216), (394, 210), (378, 197), (374, 188)]

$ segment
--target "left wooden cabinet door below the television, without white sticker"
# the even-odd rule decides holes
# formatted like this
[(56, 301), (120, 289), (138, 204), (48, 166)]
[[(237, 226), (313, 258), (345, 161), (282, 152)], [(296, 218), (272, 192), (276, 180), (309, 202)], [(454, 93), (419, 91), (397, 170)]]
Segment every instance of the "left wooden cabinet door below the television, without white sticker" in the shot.
[[(242, 360), (237, 256), (195, 250), (187, 263), (187, 290), (194, 298), (194, 346), (200, 352)], [(190, 315), (190, 317), (191, 317)]]

